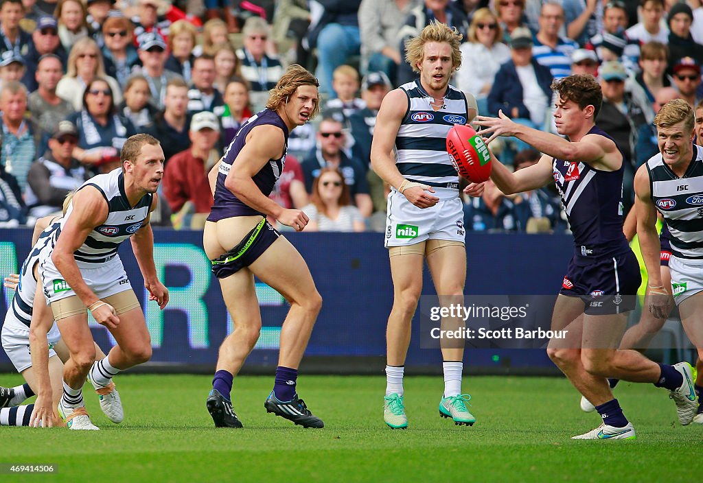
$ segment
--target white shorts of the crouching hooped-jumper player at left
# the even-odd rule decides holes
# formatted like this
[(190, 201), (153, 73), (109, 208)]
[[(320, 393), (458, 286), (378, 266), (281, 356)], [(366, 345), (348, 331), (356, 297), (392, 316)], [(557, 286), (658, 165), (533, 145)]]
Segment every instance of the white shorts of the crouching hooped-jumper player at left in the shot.
[[(96, 265), (95, 268), (80, 267), (79, 270), (83, 281), (98, 298), (103, 299), (115, 295), (115, 293), (131, 290), (131, 283), (129, 283), (127, 273), (124, 272), (120, 257), (116, 256), (107, 263)], [(51, 261), (51, 255), (41, 260), (39, 272), (44, 281), (44, 295), (49, 304), (76, 295), (63, 279), (63, 275), (56, 270), (56, 266)]]

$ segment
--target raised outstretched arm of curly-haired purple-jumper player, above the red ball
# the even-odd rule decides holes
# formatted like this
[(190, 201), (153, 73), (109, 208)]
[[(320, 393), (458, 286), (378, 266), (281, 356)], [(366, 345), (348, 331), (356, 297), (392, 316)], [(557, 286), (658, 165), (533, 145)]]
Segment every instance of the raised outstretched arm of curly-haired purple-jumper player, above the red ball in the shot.
[(477, 116), (474, 123), (484, 128), (482, 135), (490, 134), (486, 144), (499, 135), (515, 136), (550, 157), (581, 161), (602, 171), (616, 171), (622, 164), (622, 156), (615, 143), (601, 135), (587, 134), (578, 141), (569, 141), (556, 134), (517, 124), (503, 111), (498, 112), (498, 117)]

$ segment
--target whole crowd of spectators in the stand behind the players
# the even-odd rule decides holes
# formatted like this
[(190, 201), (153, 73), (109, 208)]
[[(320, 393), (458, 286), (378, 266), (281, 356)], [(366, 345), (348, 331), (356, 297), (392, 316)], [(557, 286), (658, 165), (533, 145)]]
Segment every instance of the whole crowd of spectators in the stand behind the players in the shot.
[[(597, 77), (626, 209), (659, 107), (683, 98), (703, 121), (700, 0), (0, 0), (0, 226), (60, 211), (144, 132), (166, 158), (153, 223), (201, 228), (207, 172), (297, 62), (320, 79), (322, 115), (291, 133), (271, 197), (305, 211), (307, 231), (382, 231), (376, 114), (414, 79), (404, 42), (432, 20), (463, 34), (452, 84), (481, 114), (554, 132), (552, 81)], [(516, 170), (541, 157), (515, 138), (491, 146)], [(467, 230), (568, 230), (553, 190), (505, 197), (487, 183), (464, 201)]]

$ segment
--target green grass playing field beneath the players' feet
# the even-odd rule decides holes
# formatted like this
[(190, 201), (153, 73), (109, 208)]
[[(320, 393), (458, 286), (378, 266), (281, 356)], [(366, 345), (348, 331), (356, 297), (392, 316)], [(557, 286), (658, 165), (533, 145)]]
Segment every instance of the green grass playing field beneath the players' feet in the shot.
[(383, 423), (383, 378), (302, 376), (299, 390), (325, 421), (322, 430), (266, 413), (272, 379), (236, 378), (243, 430), (212, 427), (207, 376), (117, 376), (126, 414), (120, 425), (105, 418), (86, 386), (87, 409), (101, 431), (0, 428), (0, 463), (58, 465), (55, 475), (0, 481), (622, 483), (695, 481), (703, 470), (703, 428), (678, 424), (667, 392), (650, 384), (616, 390), (638, 439), (600, 442), (569, 439), (600, 418), (581, 412), (562, 378), (465, 378), (477, 417), (467, 428), (439, 418), (441, 377), (408, 377), (408, 430)]

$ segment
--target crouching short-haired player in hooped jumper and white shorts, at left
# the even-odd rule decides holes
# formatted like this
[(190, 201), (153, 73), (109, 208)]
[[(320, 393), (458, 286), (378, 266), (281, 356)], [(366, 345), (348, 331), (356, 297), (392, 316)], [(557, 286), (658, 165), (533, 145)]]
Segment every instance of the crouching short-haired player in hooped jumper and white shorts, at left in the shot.
[[(150, 213), (164, 174), (164, 152), (148, 134), (127, 139), (122, 167), (86, 181), (74, 195), (53, 249), (42, 254), (39, 272), (70, 359), (63, 368), (63, 396), (58, 412), (72, 430), (97, 430), (86, 413), (82, 388), (107, 388), (112, 377), (151, 357), (151, 338), (117, 249), (130, 238), (149, 291), (160, 308), (169, 301), (154, 265)], [(96, 362), (88, 313), (117, 340), (108, 357)], [(116, 418), (122, 419), (122, 409)]]

